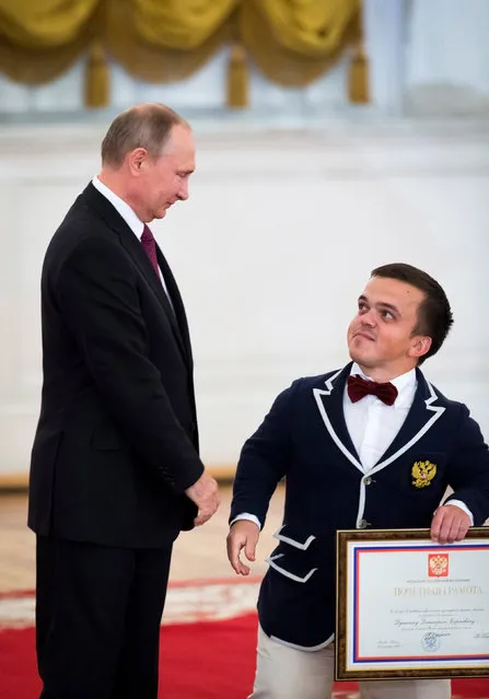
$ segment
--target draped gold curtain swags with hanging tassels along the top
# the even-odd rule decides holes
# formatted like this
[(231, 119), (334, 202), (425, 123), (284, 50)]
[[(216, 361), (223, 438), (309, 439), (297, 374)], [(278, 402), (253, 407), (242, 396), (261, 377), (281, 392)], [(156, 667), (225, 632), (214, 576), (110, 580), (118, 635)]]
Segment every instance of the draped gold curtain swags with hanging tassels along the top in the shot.
[(89, 53), (85, 103), (108, 102), (106, 57), (149, 82), (183, 80), (232, 44), (228, 104), (247, 104), (248, 60), (303, 86), (351, 50), (352, 101), (365, 102), (361, 0), (0, 0), (0, 71), (42, 84)]

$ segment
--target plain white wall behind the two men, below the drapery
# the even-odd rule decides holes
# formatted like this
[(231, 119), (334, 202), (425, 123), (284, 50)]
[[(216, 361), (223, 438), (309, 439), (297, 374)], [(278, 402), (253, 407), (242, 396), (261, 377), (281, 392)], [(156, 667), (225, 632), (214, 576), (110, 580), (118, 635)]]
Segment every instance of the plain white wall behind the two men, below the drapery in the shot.
[[(97, 171), (102, 135), (0, 132), (0, 477), (27, 470), (40, 264)], [(282, 387), (347, 360), (358, 293), (388, 261), (423, 267), (446, 288), (455, 326), (426, 371), (489, 434), (487, 126), (331, 121), (217, 136), (202, 125), (197, 135), (191, 198), (153, 229), (189, 316), (205, 461), (233, 465)]]

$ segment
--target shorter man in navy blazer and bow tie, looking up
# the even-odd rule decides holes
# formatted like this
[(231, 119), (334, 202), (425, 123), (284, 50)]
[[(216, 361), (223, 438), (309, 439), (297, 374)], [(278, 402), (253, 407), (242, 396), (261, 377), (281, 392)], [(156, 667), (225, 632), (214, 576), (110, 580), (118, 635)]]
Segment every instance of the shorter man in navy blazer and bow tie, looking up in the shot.
[[(258, 599), (253, 699), (328, 699), (334, 679), (337, 529), (431, 527), (440, 544), (489, 516), (489, 452), (465, 405), (418, 365), (452, 325), (440, 284), (408, 265), (372, 272), (348, 330), (352, 359), (283, 391), (240, 458), (228, 555), (255, 559), (286, 478), (279, 545)], [(440, 505), (446, 488), (454, 490)], [(445, 679), (361, 683), (363, 699), (449, 699)]]

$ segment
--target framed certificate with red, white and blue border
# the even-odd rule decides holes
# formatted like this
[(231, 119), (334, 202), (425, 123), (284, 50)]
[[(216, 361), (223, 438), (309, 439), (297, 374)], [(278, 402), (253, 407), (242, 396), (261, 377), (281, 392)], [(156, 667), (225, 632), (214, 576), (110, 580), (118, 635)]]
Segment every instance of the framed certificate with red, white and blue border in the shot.
[(489, 676), (489, 527), (337, 533), (336, 679)]

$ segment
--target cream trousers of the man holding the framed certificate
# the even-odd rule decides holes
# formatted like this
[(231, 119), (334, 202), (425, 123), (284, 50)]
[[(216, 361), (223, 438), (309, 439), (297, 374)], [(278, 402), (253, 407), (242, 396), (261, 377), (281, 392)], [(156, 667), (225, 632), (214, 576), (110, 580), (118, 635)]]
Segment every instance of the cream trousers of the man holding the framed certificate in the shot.
[[(270, 639), (258, 628), (255, 686), (248, 699), (331, 699), (335, 644), (300, 651)], [(450, 699), (450, 679), (360, 683), (361, 699)]]

